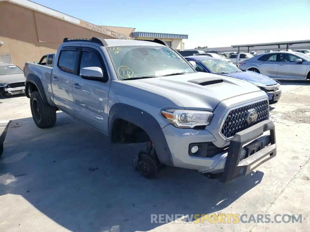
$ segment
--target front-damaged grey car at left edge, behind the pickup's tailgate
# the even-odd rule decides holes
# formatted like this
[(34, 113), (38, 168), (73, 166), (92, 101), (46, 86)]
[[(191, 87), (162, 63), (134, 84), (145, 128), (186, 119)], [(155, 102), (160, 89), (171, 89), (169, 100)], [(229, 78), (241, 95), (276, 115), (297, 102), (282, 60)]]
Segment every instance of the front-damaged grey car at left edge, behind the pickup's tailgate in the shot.
[(25, 93), (23, 70), (15, 64), (0, 63), (0, 97)]

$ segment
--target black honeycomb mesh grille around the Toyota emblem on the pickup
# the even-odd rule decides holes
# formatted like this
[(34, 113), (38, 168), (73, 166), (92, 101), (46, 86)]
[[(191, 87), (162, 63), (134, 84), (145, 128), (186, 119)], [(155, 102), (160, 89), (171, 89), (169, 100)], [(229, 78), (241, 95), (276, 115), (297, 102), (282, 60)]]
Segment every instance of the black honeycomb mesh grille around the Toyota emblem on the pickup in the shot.
[[(246, 113), (250, 109), (255, 109), (258, 114), (257, 120), (251, 124), (246, 121)], [(230, 138), (239, 131), (243, 131), (246, 128), (249, 128), (259, 122), (267, 120), (268, 118), (269, 107), (267, 100), (260, 101), (251, 105), (242, 106), (229, 112), (221, 128), (221, 134), (225, 138)]]

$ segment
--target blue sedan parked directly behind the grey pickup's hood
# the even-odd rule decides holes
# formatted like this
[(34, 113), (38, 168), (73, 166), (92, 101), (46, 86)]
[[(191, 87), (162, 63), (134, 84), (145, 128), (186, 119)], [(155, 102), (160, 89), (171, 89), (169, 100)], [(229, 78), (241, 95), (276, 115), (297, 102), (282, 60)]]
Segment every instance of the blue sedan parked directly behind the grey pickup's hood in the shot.
[(198, 72), (209, 72), (230, 76), (256, 85), (267, 93), (269, 102), (277, 102), (281, 97), (280, 82), (268, 76), (251, 71), (242, 71), (237, 68), (236, 65), (219, 58), (209, 56), (187, 56), (184, 58), (189, 61)]

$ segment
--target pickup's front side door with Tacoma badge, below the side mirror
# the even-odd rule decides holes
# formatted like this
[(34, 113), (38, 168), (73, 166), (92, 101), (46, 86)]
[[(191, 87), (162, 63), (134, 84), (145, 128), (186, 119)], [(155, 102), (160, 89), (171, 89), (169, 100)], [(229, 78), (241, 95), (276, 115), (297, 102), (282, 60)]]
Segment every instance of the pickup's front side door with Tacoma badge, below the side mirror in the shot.
[(84, 67), (100, 67), (108, 76), (103, 52), (96, 46), (81, 45), (78, 75), (73, 78), (74, 116), (81, 122), (108, 134), (108, 94), (111, 78), (107, 82), (83, 79), (79, 76)]

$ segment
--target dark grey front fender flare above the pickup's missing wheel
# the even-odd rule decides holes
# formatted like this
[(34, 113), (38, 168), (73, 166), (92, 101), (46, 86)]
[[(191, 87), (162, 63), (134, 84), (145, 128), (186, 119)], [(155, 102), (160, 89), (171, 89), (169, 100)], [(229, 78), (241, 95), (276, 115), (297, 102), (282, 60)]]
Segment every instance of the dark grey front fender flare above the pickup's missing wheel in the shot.
[(123, 119), (142, 128), (151, 139), (159, 161), (173, 166), (172, 156), (165, 135), (157, 120), (149, 113), (131, 105), (116, 103), (112, 105), (108, 118), (108, 135), (112, 138), (113, 123), (116, 119)]

